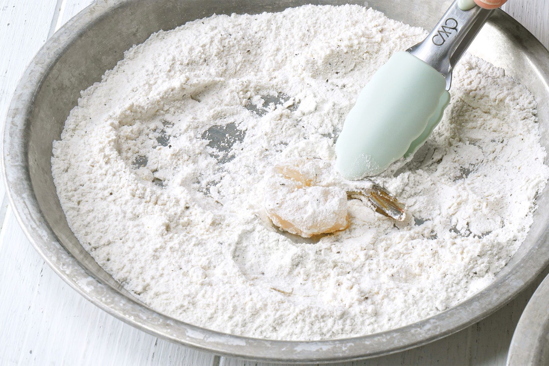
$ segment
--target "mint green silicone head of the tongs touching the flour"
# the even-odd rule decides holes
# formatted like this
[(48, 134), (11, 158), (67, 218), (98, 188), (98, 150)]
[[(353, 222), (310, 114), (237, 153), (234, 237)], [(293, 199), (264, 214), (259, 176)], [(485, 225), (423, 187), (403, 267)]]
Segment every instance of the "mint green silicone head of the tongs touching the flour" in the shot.
[(440, 72), (410, 53), (395, 53), (362, 89), (345, 119), (335, 145), (337, 170), (347, 179), (361, 179), (413, 154), (449, 102)]

